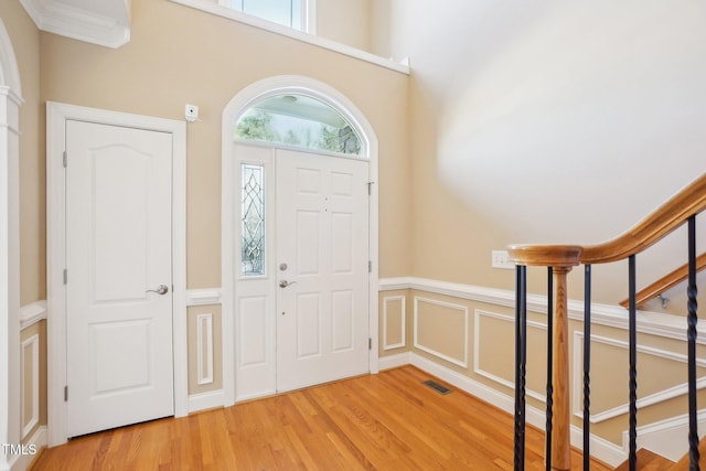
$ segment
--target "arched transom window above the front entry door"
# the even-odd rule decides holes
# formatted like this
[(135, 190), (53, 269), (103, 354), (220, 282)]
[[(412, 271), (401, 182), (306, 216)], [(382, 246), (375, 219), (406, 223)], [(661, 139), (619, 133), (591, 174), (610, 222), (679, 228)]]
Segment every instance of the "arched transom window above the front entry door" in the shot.
[(235, 137), (354, 156), (365, 151), (355, 128), (338, 110), (296, 93), (257, 101), (238, 119)]

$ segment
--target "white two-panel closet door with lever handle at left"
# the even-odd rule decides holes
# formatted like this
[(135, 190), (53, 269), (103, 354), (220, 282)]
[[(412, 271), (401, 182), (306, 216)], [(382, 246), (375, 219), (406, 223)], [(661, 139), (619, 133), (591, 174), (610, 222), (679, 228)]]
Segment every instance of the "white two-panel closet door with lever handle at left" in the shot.
[(69, 437), (174, 413), (172, 135), (66, 122)]

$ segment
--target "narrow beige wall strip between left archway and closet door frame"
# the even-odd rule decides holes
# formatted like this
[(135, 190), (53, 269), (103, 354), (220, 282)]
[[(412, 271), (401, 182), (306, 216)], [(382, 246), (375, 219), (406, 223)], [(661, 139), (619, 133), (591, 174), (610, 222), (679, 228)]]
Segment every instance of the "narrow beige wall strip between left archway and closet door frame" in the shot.
[(46, 298), (44, 114), (40, 103), (40, 33), (17, 0), (0, 2), (20, 68), (20, 304)]

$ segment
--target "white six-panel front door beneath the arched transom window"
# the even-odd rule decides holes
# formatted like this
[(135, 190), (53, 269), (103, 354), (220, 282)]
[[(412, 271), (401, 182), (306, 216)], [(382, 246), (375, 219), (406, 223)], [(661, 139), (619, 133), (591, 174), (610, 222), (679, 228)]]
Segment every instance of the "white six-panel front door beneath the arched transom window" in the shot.
[(277, 390), (368, 371), (368, 163), (277, 150)]

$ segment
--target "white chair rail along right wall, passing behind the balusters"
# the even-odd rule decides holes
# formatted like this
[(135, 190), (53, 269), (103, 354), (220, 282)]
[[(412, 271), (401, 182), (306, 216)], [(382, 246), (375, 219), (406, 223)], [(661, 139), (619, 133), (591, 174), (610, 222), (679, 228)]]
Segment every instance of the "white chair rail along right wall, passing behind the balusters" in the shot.
[[(415, 289), (434, 292), (471, 301), (515, 308), (515, 292), (502, 289), (485, 288), (473, 285), (452, 283), (427, 278), (400, 277), (381, 278), (379, 290)], [(547, 297), (527, 293), (527, 310), (541, 314), (547, 312)], [(569, 319), (584, 321), (584, 301), (569, 300)], [(593, 324), (616, 329), (628, 329), (628, 310), (621, 306), (591, 303), (591, 321)], [(638, 332), (665, 339), (685, 340), (686, 318), (664, 314), (662, 312), (638, 311)], [(706, 345), (706, 322), (697, 325), (696, 342)]]

